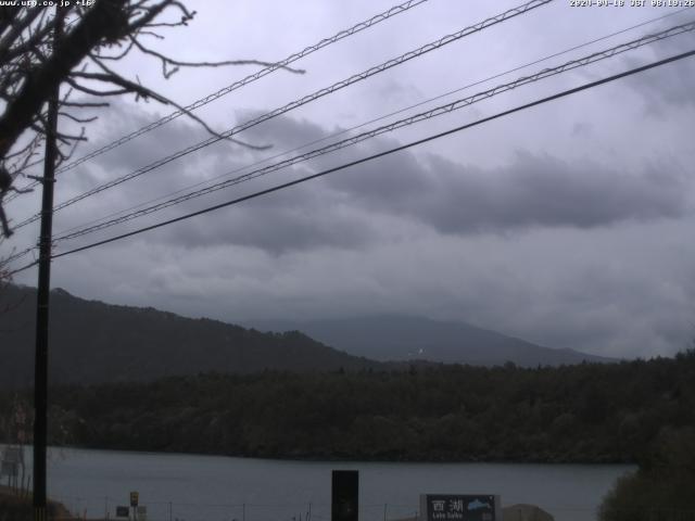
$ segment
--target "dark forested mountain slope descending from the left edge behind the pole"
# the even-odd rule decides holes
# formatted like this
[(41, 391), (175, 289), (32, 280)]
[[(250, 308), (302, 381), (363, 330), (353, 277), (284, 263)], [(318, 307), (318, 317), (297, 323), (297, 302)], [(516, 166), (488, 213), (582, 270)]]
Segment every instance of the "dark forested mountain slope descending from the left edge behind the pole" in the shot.
[[(34, 379), (36, 290), (0, 292), (0, 386)], [(261, 333), (153, 308), (85, 301), (51, 292), (50, 380), (97, 383), (165, 376), (264, 369), (309, 371), (378, 368), (299, 333)]]

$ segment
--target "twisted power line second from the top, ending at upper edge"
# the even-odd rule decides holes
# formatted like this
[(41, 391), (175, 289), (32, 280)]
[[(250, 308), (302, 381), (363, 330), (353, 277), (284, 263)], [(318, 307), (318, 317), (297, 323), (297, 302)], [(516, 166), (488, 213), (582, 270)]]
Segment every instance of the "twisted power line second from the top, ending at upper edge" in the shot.
[[(118, 177), (112, 181), (105, 182), (103, 185), (100, 185), (99, 187), (96, 187), (91, 190), (88, 190), (79, 195), (76, 195), (72, 199), (68, 199), (67, 201), (64, 201), (63, 203), (58, 204), (54, 208), (53, 212), (58, 212), (60, 209), (63, 209), (67, 206), (71, 206), (79, 201), (81, 201), (83, 199), (89, 198), (91, 195), (94, 195), (97, 193), (100, 193), (104, 190), (108, 190), (110, 188), (113, 188), (115, 186), (118, 186), (123, 182), (126, 182), (130, 179), (135, 179), (136, 177), (139, 177), (143, 174), (147, 174), (148, 171), (154, 170), (167, 163), (170, 163), (172, 161), (175, 161), (179, 157), (182, 157), (185, 155), (188, 155), (192, 152), (195, 152), (198, 150), (201, 150), (205, 147), (208, 147), (213, 143), (216, 143), (225, 138), (229, 138), (232, 135), (239, 134), (243, 130), (247, 130), (251, 127), (254, 127), (263, 122), (266, 122), (268, 119), (271, 119), (274, 117), (277, 117), (281, 114), (285, 114), (286, 112), (289, 112), (291, 110), (298, 109), (302, 105), (305, 105), (306, 103), (309, 103), (312, 101), (315, 101), (319, 98), (323, 98), (325, 96), (331, 94), (333, 92), (337, 92), (338, 90), (341, 90), (345, 87), (349, 87), (357, 81), (362, 81), (366, 78), (369, 78), (376, 74), (382, 73), (384, 71), (388, 71), (392, 67), (395, 67), (396, 65), (401, 65), (402, 63), (405, 63), (409, 60), (413, 60), (415, 58), (419, 58), (430, 51), (440, 49), (448, 43), (452, 43), (454, 41), (457, 41), (466, 36), (470, 36), (475, 33), (479, 33), (488, 27), (491, 27), (493, 25), (500, 24), (502, 22), (505, 22), (506, 20), (513, 18), (515, 16), (518, 16), (520, 14), (525, 14), (533, 9), (540, 8), (542, 5), (545, 5), (546, 3), (552, 2), (553, 0), (531, 0), (522, 5), (519, 5), (517, 8), (510, 9), (508, 11), (505, 11), (504, 13), (501, 13), (496, 16), (492, 16), (490, 18), (486, 18), (476, 25), (471, 25), (469, 27), (466, 27), (464, 29), (460, 29), (454, 34), (444, 36), (442, 38), (440, 38), (437, 41), (427, 43), (416, 50), (413, 51), (408, 51), (405, 54), (401, 54), (397, 58), (391, 59), (387, 62), (383, 62), (379, 65), (376, 65), (374, 67), (370, 67), (366, 71), (363, 71), (362, 73), (355, 74), (346, 79), (343, 79), (341, 81), (338, 81), (333, 85), (331, 85), (330, 87), (325, 87), (320, 90), (317, 90), (315, 92), (313, 92), (312, 94), (307, 94), (299, 100), (292, 101), (291, 103), (288, 103), (287, 105), (283, 105), (279, 109), (276, 109), (271, 112), (268, 112), (266, 114), (263, 114), (256, 118), (250, 119), (241, 125), (237, 125), (236, 127), (232, 127), (229, 130), (226, 130), (225, 132), (222, 132), (219, 136), (214, 136), (211, 137), (204, 141), (201, 141), (197, 144), (190, 145), (184, 150), (179, 150), (177, 152), (175, 152), (174, 154), (170, 154), (166, 157), (163, 157), (161, 160), (155, 161), (154, 163), (151, 163), (147, 166), (143, 166), (135, 171), (131, 171), (130, 174), (126, 174), (125, 176)], [(16, 225), (14, 228), (15, 230), (18, 228), (22, 228), (30, 223), (34, 223), (35, 220), (40, 218), (40, 214), (35, 214), (34, 216), (23, 220), (22, 223), (20, 223), (18, 225)]]

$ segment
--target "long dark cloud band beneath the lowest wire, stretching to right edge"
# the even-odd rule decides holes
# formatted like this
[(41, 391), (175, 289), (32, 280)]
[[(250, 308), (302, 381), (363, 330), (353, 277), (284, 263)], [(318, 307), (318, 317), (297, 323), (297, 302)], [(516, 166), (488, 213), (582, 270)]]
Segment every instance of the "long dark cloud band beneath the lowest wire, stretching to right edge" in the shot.
[(236, 243), (273, 253), (355, 249), (386, 234), (395, 219), (471, 234), (674, 218), (687, 212), (686, 193), (684, 179), (656, 167), (632, 175), (519, 153), (504, 168), (480, 169), (403, 154), (242, 203), (176, 237), (188, 245)]

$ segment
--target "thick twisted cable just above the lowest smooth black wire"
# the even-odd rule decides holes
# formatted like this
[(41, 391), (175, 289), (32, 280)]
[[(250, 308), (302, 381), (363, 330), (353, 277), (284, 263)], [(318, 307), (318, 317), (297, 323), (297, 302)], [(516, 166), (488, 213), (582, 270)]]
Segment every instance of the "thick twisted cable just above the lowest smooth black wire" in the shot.
[(139, 209), (137, 212), (132, 212), (130, 214), (123, 215), (121, 217), (116, 217), (116, 218), (111, 219), (111, 220), (106, 220), (106, 221), (103, 221), (103, 223), (100, 223), (100, 224), (97, 224), (97, 225), (92, 225), (92, 226), (87, 226), (87, 227), (81, 228), (81, 229), (79, 229), (77, 231), (74, 231), (72, 233), (64, 233), (64, 234), (58, 236), (55, 238), (55, 240), (56, 241), (64, 241), (64, 240), (68, 240), (68, 239), (75, 239), (77, 237), (85, 236), (87, 233), (91, 233), (91, 232), (94, 232), (94, 231), (98, 231), (98, 230), (110, 228), (112, 226), (119, 225), (122, 223), (126, 223), (128, 220), (132, 220), (135, 218), (142, 217), (144, 215), (152, 214), (152, 213), (157, 212), (160, 209), (164, 209), (166, 207), (174, 206), (176, 204), (180, 204), (180, 203), (182, 203), (185, 201), (189, 201), (191, 199), (195, 199), (195, 198), (199, 198), (201, 195), (205, 195), (205, 194), (208, 194), (208, 193), (212, 193), (212, 192), (215, 192), (215, 191), (218, 191), (218, 190), (222, 190), (222, 189), (225, 189), (225, 188), (228, 188), (228, 187), (231, 187), (231, 186), (244, 182), (244, 181), (249, 181), (251, 179), (255, 179), (255, 178), (261, 177), (261, 176), (265, 176), (265, 175), (267, 175), (267, 174), (269, 174), (271, 171), (276, 171), (276, 170), (279, 170), (281, 168), (286, 168), (286, 167), (295, 165), (298, 163), (301, 163), (301, 162), (304, 162), (304, 161), (307, 161), (307, 160), (311, 160), (311, 158), (314, 158), (314, 157), (318, 157), (320, 155), (325, 155), (325, 154), (328, 154), (330, 152), (334, 152), (337, 150), (344, 149), (346, 147), (351, 147), (351, 145), (357, 144), (357, 143), (359, 143), (362, 141), (365, 141), (367, 139), (371, 139), (371, 138), (375, 138), (377, 136), (380, 136), (380, 135), (383, 135), (383, 134), (387, 134), (387, 132), (391, 132), (391, 131), (393, 131), (395, 129), (403, 128), (403, 127), (406, 127), (406, 126), (409, 126), (409, 125), (414, 125), (414, 124), (424, 122), (426, 119), (430, 119), (432, 117), (441, 116), (443, 114), (448, 114), (451, 112), (464, 109), (464, 107), (469, 106), (469, 105), (471, 105), (473, 103), (477, 103), (479, 101), (492, 98), (492, 97), (497, 96), (497, 94), (503, 93), (503, 92), (507, 92), (507, 91), (516, 89), (518, 87), (521, 87), (521, 86), (525, 86), (525, 85), (529, 85), (531, 82), (535, 82), (535, 81), (539, 81), (539, 80), (542, 80), (542, 79), (545, 79), (545, 78), (548, 78), (548, 77), (552, 77), (552, 76), (555, 76), (555, 75), (558, 75), (558, 74), (561, 74), (561, 73), (565, 73), (567, 71), (572, 71), (572, 69), (578, 68), (578, 67), (586, 66), (589, 64), (596, 63), (596, 62), (599, 62), (602, 60), (606, 60), (606, 59), (612, 58), (612, 56), (615, 56), (617, 54), (620, 54), (620, 53), (623, 53), (623, 52), (627, 52), (627, 51), (630, 51), (630, 50), (633, 50), (633, 49), (637, 49), (637, 48), (646, 46), (648, 43), (653, 43), (655, 41), (664, 40), (666, 38), (671, 38), (673, 36), (681, 35), (683, 33), (687, 33), (687, 31), (692, 31), (692, 30), (695, 30), (695, 22), (691, 22), (688, 24), (683, 24), (683, 25), (679, 25), (679, 26), (675, 26), (675, 27), (671, 27), (669, 29), (662, 30), (661, 33), (657, 33), (657, 34), (654, 34), (654, 35), (647, 35), (647, 36), (644, 36), (644, 37), (639, 38), (636, 40), (632, 40), (632, 41), (629, 41), (627, 43), (621, 43), (619, 46), (616, 46), (616, 47), (614, 47), (611, 49), (607, 49), (605, 51), (595, 52), (595, 53), (592, 53), (592, 54), (590, 54), (587, 56), (584, 56), (584, 58), (581, 58), (581, 59), (571, 60), (571, 61), (566, 62), (566, 63), (564, 63), (561, 65), (558, 65), (556, 67), (544, 68), (544, 69), (542, 69), (542, 71), (540, 71), (540, 72), (538, 72), (538, 73), (535, 73), (533, 75), (525, 76), (525, 77), (518, 78), (518, 79), (516, 79), (514, 81), (496, 86), (496, 87), (494, 87), (492, 89), (489, 89), (489, 90), (485, 90), (485, 91), (482, 91), (482, 92), (478, 92), (478, 93), (476, 93), (473, 96), (470, 96), (470, 97), (467, 97), (467, 98), (463, 98), (463, 99), (453, 101), (451, 103), (446, 103), (444, 105), (437, 106), (437, 107), (431, 109), (429, 111), (421, 112), (419, 114), (415, 114), (413, 116), (409, 116), (409, 117), (406, 117), (406, 118), (403, 118), (403, 119), (399, 119), (396, 122), (390, 123), (388, 125), (383, 125), (383, 126), (378, 127), (376, 129), (358, 134), (356, 136), (353, 136), (353, 137), (348, 138), (348, 139), (343, 139), (341, 141), (337, 141), (334, 143), (330, 143), (330, 144), (328, 144), (326, 147), (323, 147), (320, 149), (312, 150), (312, 151), (306, 152), (304, 154), (300, 154), (300, 155), (295, 155), (293, 157), (289, 157), (289, 158), (280, 161), (278, 163), (275, 163), (275, 164), (271, 164), (271, 165), (255, 169), (255, 170), (253, 170), (251, 173), (244, 174), (244, 175), (239, 176), (237, 178), (229, 179), (229, 180), (226, 180), (226, 181), (222, 181), (222, 182), (212, 185), (210, 187), (206, 187), (206, 188), (203, 188), (203, 189), (200, 189), (200, 190), (195, 190), (193, 192), (189, 192), (189, 193), (184, 194), (184, 195), (179, 195), (179, 196), (170, 199), (168, 201), (165, 201), (165, 202), (162, 202), (162, 203), (159, 203), (159, 204), (155, 204), (155, 205)]

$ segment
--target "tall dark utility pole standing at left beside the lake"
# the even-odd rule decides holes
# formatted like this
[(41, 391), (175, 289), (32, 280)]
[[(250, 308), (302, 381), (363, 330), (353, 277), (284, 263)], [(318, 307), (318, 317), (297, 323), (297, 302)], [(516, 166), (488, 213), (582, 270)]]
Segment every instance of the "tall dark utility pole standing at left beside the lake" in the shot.
[[(53, 53), (60, 45), (63, 16), (55, 8)], [(39, 280), (36, 306), (36, 357), (34, 360), (34, 521), (47, 521), (46, 510), (46, 446), (48, 423), (48, 319), (51, 291), (51, 242), (53, 231), (53, 185), (58, 157), (58, 104), (60, 82), (48, 103), (46, 155), (43, 158), (43, 194), (41, 203), (41, 234), (39, 238)]]

